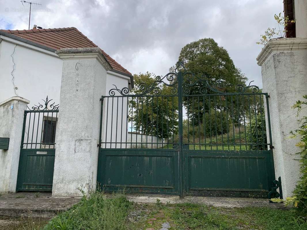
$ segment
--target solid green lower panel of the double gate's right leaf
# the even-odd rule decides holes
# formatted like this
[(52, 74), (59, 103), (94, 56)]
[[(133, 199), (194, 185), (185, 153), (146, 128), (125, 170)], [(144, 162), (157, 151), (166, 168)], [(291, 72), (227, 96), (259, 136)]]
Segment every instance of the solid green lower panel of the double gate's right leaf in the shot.
[[(274, 180), (272, 151), (184, 150), (186, 156), (186, 192), (241, 192), (239, 196), (265, 197)], [(274, 169), (274, 168), (273, 168)], [(201, 175), (201, 176), (200, 176)], [(246, 195), (242, 195), (246, 192)], [(252, 195), (251, 195), (252, 194)], [(235, 193), (233, 194), (235, 196)]]

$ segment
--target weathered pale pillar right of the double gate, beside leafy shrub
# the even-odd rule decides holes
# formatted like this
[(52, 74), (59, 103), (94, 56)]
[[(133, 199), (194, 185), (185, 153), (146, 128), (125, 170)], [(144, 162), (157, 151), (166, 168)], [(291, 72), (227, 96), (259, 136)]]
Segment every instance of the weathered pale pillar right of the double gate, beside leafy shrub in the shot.
[[(299, 178), (299, 162), (294, 160), (298, 140), (289, 132), (298, 127), (291, 106), (307, 94), (307, 38), (271, 39), (257, 57), (262, 71), (263, 92), (270, 96), (270, 121), (275, 176), (281, 176), (284, 197), (292, 195)], [(302, 110), (301, 117), (307, 116)], [(268, 122), (266, 115), (266, 124)]]

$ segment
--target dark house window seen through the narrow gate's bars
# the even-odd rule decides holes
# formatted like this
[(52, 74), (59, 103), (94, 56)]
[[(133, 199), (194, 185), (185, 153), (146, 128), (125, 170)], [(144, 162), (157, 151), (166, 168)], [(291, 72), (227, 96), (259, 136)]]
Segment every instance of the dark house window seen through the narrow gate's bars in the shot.
[(44, 117), (41, 148), (54, 148), (56, 139), (56, 117)]

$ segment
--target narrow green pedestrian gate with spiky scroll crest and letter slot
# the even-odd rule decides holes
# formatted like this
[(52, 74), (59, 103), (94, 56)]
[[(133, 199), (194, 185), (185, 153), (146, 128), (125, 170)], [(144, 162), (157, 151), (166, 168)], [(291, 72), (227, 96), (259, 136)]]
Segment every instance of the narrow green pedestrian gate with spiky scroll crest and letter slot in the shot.
[(26, 110), (16, 191), (51, 191), (59, 105), (52, 99)]

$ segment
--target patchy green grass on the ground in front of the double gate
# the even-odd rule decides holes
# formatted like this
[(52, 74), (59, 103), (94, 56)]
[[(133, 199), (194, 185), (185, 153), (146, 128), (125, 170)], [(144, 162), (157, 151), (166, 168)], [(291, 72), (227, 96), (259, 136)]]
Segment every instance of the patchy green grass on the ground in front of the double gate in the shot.
[[(59, 214), (45, 227), (25, 230), (305, 230), (307, 224), (293, 220), (293, 212), (274, 208), (216, 208), (197, 204), (136, 204), (124, 195), (107, 198), (103, 193), (84, 197), (79, 204)], [(34, 220), (33, 220), (34, 223)]]

